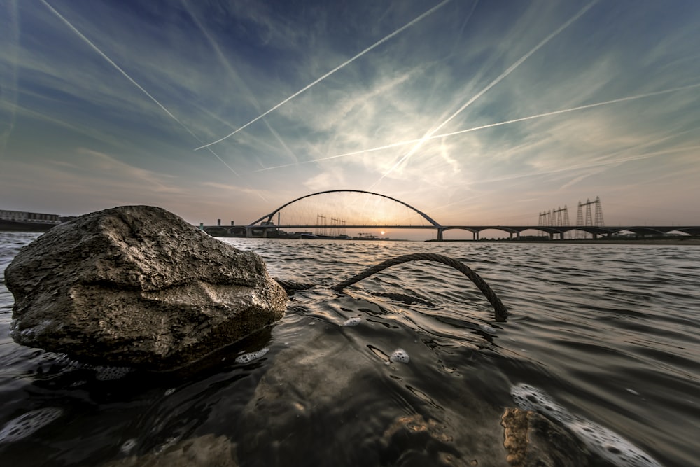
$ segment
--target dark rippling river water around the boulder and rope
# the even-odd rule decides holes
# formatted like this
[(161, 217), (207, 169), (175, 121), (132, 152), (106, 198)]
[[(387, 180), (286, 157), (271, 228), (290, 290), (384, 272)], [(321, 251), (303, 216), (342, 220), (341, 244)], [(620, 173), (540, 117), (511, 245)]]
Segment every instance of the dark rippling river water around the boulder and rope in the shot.
[[(0, 268), (36, 236), (0, 233)], [(500, 417), (534, 388), (535, 409), (583, 437), (595, 428), (582, 445), (603, 450), (584, 465), (626, 465), (622, 447), (630, 459), (645, 453), (639, 465), (700, 466), (698, 246), (226, 241), (262, 255), (273, 277), (319, 286), (196, 375), (100, 373), (20, 347), (0, 285), (0, 429), (33, 410), (48, 420), (0, 442), (0, 462), (103, 465), (200, 449), (245, 467), (507, 466)], [(325, 288), (417, 252), (472, 267), (507, 322), (438, 263)], [(190, 454), (173, 454), (193, 439)], [(605, 457), (608, 441), (618, 444)]]

